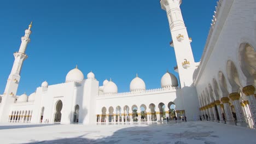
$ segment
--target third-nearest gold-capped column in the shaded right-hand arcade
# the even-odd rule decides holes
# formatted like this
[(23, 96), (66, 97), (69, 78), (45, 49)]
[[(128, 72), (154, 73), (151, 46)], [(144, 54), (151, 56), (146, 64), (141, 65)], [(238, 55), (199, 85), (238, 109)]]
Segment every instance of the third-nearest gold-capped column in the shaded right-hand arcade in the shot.
[(226, 123), (235, 125), (234, 118), (232, 116), (231, 108), (229, 106), (229, 98), (228, 97), (223, 97), (222, 103), (224, 105), (224, 111), (225, 111), (225, 116), (226, 116)]

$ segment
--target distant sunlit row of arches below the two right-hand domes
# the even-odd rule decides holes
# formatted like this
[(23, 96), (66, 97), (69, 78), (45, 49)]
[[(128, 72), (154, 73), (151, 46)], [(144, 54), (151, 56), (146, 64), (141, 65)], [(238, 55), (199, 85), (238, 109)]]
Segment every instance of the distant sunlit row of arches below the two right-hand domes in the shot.
[[(123, 109), (122, 109), (123, 108)], [(102, 113), (96, 115), (98, 123), (124, 123), (124, 122), (161, 122), (164, 119), (177, 120), (185, 117), (184, 110), (175, 110), (173, 102), (158, 105), (149, 104), (148, 107), (141, 104), (132, 106), (102, 107)]]

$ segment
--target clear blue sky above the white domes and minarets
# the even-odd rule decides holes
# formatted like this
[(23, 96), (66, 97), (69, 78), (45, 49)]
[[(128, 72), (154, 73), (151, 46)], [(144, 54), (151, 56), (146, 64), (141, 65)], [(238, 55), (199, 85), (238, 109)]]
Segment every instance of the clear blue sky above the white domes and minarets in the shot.
[[(216, 2), (183, 0), (181, 5), (196, 62)], [(49, 85), (65, 82), (76, 64), (85, 77), (92, 70), (101, 85), (111, 77), (119, 92), (129, 91), (136, 73), (147, 89), (160, 88), (167, 69), (178, 77), (166, 12), (159, 0), (3, 1), (0, 13), (0, 93), (30, 21), (31, 43), (18, 95), (36, 91), (44, 80)]]

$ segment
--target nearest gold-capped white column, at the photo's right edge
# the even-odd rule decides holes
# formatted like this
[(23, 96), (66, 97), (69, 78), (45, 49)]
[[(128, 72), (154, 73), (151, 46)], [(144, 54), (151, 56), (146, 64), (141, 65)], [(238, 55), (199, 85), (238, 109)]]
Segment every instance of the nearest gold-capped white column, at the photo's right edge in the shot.
[(256, 128), (256, 99), (254, 96), (255, 87), (254, 86), (246, 86), (243, 88), (243, 93), (246, 94), (249, 101), (249, 108), (251, 111), (251, 115), (253, 117), (253, 127)]

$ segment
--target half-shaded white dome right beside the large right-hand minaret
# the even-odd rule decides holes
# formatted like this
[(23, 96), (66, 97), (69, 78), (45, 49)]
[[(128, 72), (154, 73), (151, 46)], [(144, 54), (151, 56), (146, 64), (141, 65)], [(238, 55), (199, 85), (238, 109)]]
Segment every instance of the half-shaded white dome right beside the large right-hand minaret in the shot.
[(164, 88), (164, 87), (177, 87), (177, 86), (178, 86), (178, 80), (176, 76), (174, 76), (173, 74), (167, 71), (167, 73), (165, 73), (164, 76), (162, 76), (161, 87)]

